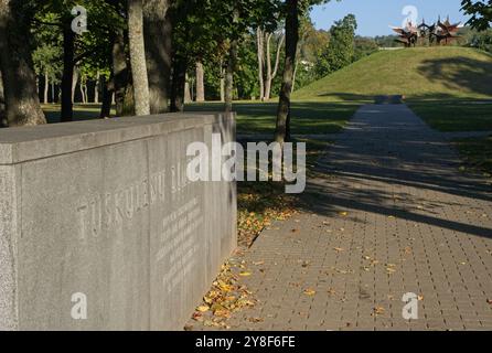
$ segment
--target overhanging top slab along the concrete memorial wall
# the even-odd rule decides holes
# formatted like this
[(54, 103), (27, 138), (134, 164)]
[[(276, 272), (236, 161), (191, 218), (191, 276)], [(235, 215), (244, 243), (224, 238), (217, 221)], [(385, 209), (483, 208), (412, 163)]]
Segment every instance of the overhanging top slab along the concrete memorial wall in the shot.
[(0, 130), (0, 165), (140, 140), (213, 124), (217, 113), (169, 114)]

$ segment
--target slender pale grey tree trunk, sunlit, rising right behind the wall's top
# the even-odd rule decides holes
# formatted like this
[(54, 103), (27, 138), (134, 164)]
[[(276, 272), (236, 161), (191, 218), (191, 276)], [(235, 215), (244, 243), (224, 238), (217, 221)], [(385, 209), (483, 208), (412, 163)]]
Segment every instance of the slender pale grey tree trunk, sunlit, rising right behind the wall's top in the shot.
[(138, 116), (150, 115), (142, 0), (128, 0), (128, 41), (130, 44), (131, 74), (133, 76), (135, 113)]

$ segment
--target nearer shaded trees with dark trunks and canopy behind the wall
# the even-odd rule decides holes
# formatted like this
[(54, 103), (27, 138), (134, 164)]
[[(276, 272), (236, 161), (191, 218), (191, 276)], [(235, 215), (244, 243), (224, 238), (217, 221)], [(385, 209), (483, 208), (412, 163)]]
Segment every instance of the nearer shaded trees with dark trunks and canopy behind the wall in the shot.
[[(299, 19), (312, 4), (321, 2), (325, 1), (81, 0), (75, 3), (72, 0), (1, 0), (2, 125), (45, 124), (35, 73), (44, 75), (46, 96), (49, 82), (55, 82), (56, 65), (53, 63), (58, 60), (63, 62), (62, 121), (73, 120), (74, 82), (78, 75), (96, 79), (103, 87), (101, 116), (109, 115), (113, 96), (119, 116), (181, 111), (189, 67), (196, 65), (201, 78), (203, 63), (217, 58), (223, 63), (225, 109), (229, 111), (239, 45), (245, 34), (256, 30), (266, 50), (265, 60), (260, 61), (266, 69), (266, 89), (261, 95), (265, 99), (271, 94), (271, 82), (282, 61), (277, 137), (284, 140)], [(76, 6), (87, 13), (87, 32), (74, 30), (78, 17), (74, 19), (72, 9)], [(272, 67), (266, 58), (280, 23), (286, 26), (281, 40), (285, 55), (281, 60), (282, 43), (278, 43), (278, 60)], [(79, 24), (76, 28), (81, 28)], [(86, 87), (82, 93), (83, 96), (87, 94)], [(199, 85), (197, 97), (204, 98), (203, 86)]]

